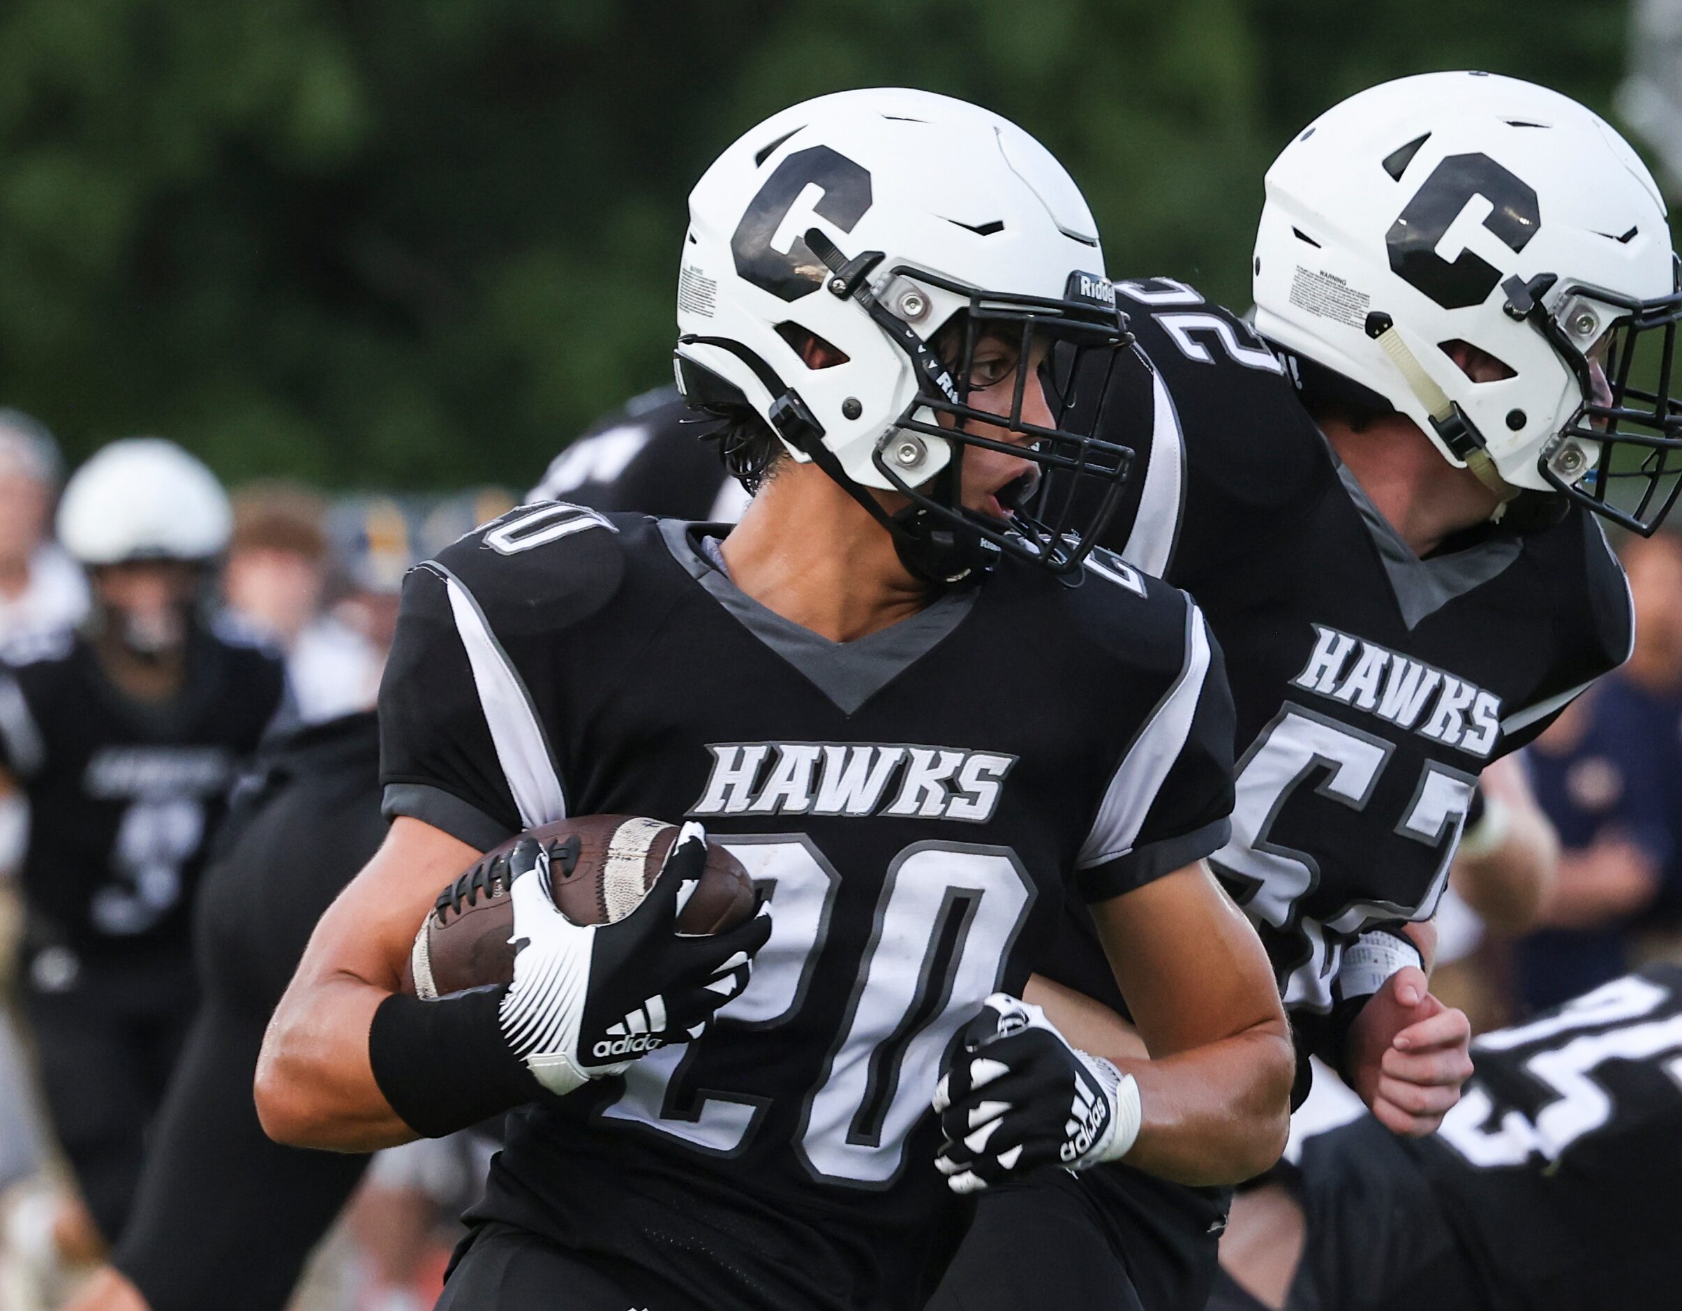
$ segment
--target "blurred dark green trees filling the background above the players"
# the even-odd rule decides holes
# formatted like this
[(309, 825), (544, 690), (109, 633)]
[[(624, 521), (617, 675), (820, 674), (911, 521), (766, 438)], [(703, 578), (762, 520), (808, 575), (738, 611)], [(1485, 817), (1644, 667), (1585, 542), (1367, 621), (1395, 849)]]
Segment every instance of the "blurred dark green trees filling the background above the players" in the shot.
[(525, 485), (666, 377), (685, 195), (785, 103), (1039, 135), (1115, 274), (1243, 303), (1262, 173), (1344, 94), (1487, 67), (1606, 109), (1621, 0), (10, 0), (0, 402), (79, 456)]

